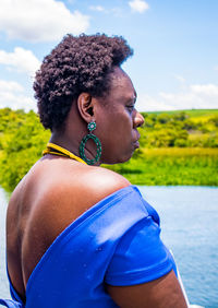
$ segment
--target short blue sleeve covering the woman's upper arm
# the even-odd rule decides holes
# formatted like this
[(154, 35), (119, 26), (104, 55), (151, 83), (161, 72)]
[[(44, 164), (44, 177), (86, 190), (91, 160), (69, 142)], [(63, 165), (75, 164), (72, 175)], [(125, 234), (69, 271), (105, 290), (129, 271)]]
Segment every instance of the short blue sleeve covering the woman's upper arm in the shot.
[(175, 268), (152, 216), (133, 225), (119, 241), (109, 264), (106, 283), (134, 285), (156, 280)]

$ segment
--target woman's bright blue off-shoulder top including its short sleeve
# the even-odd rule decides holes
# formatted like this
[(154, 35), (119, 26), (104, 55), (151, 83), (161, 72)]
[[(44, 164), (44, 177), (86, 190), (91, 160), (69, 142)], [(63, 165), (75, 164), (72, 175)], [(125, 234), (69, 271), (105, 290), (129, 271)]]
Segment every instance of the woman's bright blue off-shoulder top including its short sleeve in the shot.
[(135, 186), (106, 197), (52, 242), (26, 286), (26, 303), (11, 286), (7, 307), (118, 307), (106, 284), (124, 286), (175, 270), (160, 239), (159, 216)]

